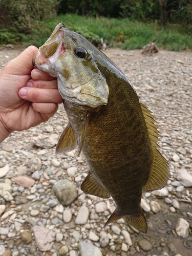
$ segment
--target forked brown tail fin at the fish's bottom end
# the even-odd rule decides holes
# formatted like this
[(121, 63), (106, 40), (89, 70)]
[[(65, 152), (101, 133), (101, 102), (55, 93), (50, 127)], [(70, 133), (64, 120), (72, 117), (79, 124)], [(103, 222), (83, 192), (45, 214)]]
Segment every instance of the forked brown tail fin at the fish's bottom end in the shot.
[(113, 214), (110, 216), (108, 221), (105, 223), (104, 226), (110, 224), (111, 222), (117, 221), (119, 219), (123, 218), (129, 225), (135, 227), (139, 231), (146, 233), (147, 231), (147, 224), (146, 224), (146, 219), (143, 214), (143, 210), (140, 208), (140, 212), (138, 215), (120, 215), (117, 213), (115, 210)]

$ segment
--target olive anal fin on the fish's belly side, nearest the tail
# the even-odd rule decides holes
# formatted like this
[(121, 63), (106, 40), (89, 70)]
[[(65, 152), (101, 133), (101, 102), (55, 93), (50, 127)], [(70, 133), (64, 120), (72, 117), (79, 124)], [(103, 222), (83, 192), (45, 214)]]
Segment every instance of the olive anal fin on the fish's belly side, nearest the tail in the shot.
[(89, 171), (88, 176), (81, 184), (81, 190), (84, 193), (101, 198), (110, 198), (111, 195), (94, 179), (93, 174)]

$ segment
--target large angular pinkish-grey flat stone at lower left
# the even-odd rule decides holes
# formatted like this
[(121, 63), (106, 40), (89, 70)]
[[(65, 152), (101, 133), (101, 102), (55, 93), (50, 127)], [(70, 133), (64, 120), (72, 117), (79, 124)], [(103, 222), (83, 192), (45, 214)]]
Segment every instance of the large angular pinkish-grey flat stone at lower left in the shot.
[(40, 251), (50, 251), (54, 244), (54, 232), (40, 226), (33, 227), (35, 242)]

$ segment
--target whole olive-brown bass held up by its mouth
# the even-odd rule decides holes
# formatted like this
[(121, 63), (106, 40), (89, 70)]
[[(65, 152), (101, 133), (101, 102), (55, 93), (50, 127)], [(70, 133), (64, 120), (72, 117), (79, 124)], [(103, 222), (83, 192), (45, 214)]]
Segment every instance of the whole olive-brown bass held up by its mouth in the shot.
[(62, 23), (39, 48), (34, 65), (57, 77), (69, 119), (56, 153), (78, 147), (90, 168), (81, 190), (113, 198), (116, 208), (105, 226), (124, 218), (146, 233), (142, 193), (161, 189), (169, 175), (152, 112), (111, 59)]

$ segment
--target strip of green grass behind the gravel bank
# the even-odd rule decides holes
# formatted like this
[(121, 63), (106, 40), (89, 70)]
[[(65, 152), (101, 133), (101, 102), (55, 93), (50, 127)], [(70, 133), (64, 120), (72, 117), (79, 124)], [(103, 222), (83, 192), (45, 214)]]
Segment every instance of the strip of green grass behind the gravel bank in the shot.
[(94, 18), (76, 14), (59, 15), (54, 20), (34, 25), (32, 35), (21, 35), (25, 46), (39, 47), (44, 44), (60, 22), (67, 28), (82, 34), (95, 45), (102, 37), (109, 47), (120, 47), (125, 50), (141, 49), (156, 38), (155, 43), (160, 49), (192, 50), (192, 36), (182, 32), (180, 25), (169, 24), (166, 28), (161, 28), (157, 23), (152, 22), (141, 23), (129, 19)]

